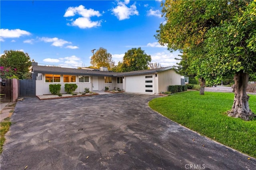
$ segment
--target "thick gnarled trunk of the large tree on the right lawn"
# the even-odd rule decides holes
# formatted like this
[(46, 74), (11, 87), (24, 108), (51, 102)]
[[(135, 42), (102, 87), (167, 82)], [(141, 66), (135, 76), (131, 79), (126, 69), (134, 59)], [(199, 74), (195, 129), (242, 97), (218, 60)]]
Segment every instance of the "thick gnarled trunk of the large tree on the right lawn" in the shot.
[(250, 96), (246, 94), (248, 86), (249, 74), (242, 70), (234, 76), (235, 97), (232, 109), (228, 111), (228, 115), (232, 117), (240, 117), (246, 121), (254, 119), (256, 115), (249, 108), (248, 100)]

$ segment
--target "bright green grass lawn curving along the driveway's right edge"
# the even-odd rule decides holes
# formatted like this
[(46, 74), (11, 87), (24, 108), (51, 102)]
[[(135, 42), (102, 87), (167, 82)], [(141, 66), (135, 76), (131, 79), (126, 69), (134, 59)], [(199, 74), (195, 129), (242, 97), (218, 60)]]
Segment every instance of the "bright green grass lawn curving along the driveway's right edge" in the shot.
[[(250, 95), (250, 109), (256, 113), (256, 95)], [(189, 91), (155, 98), (149, 106), (169, 119), (245, 154), (256, 157), (256, 119), (228, 117), (233, 93)]]

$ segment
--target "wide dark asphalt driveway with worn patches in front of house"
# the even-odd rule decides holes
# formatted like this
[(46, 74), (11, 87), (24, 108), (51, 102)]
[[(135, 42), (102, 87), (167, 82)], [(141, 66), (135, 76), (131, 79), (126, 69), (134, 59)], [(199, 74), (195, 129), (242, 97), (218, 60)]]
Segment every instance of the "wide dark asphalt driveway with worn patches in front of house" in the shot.
[(158, 96), (105, 94), (16, 104), (1, 170), (254, 169), (256, 159), (156, 113)]

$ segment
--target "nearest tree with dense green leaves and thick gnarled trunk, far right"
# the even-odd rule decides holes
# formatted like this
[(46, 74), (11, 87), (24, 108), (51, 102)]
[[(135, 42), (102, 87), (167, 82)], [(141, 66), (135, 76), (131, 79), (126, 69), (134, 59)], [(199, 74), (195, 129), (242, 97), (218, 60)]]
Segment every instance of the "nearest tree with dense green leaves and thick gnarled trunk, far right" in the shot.
[(248, 80), (256, 74), (256, 4), (246, 4), (231, 21), (212, 28), (206, 35), (205, 51), (215, 69), (212, 74), (234, 75), (235, 97), (228, 114), (244, 120), (256, 117), (249, 108)]

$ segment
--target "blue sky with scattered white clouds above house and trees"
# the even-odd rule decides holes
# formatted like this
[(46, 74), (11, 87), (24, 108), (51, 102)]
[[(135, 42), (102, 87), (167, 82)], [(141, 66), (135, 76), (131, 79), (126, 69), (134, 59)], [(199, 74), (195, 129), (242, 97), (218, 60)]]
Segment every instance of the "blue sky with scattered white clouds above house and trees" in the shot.
[[(103, 47), (117, 64), (141, 47), (161, 66), (176, 64), (154, 35), (161, 18), (159, 0), (0, 1), (0, 54), (21, 50), (40, 65), (90, 66), (92, 49)], [(94, 51), (96, 52), (96, 51)]]

